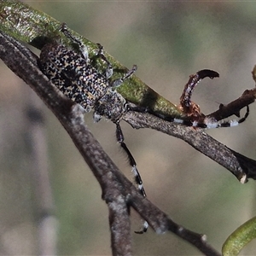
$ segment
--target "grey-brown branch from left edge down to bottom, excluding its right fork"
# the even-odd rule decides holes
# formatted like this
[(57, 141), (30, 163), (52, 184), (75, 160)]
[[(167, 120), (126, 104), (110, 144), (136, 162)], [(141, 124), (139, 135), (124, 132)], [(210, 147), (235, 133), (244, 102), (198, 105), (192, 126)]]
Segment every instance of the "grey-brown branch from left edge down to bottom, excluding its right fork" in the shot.
[[(0, 57), (55, 113), (79, 148), (102, 187), (102, 198), (109, 205), (113, 255), (131, 255), (131, 233), (126, 193), (120, 172), (101, 145), (84, 125), (82, 108), (63, 96), (38, 69), (37, 56), (5, 34), (0, 34)], [(131, 183), (129, 187), (131, 187)], [(122, 200), (120, 200), (122, 199)], [(117, 218), (119, 216), (119, 218)], [(126, 230), (124, 232), (124, 230)], [(128, 231), (127, 231), (128, 230)], [(119, 241), (122, 237), (122, 242)]]

